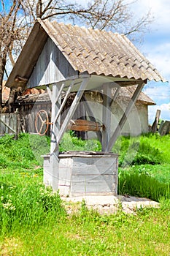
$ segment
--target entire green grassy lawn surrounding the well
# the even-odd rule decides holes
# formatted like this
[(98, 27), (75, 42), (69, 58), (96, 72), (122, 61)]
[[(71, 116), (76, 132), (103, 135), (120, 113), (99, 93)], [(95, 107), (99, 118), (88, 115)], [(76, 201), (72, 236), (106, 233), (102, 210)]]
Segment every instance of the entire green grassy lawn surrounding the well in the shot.
[[(106, 216), (82, 202), (68, 215), (58, 193), (42, 184), (40, 156), (49, 152), (49, 138), (1, 138), (0, 255), (169, 255), (169, 146), (169, 135), (147, 135), (120, 138), (113, 148), (120, 154), (119, 191), (155, 196), (160, 208)], [(66, 134), (61, 150), (72, 149), (101, 146)]]

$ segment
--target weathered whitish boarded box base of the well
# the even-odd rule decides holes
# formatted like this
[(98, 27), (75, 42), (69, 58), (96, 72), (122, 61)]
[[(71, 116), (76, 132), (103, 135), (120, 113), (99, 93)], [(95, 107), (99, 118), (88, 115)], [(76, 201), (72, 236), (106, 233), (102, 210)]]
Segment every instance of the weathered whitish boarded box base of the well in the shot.
[[(63, 196), (117, 195), (117, 154), (69, 151), (58, 156), (58, 189)], [(50, 155), (44, 156), (44, 183), (53, 187)]]

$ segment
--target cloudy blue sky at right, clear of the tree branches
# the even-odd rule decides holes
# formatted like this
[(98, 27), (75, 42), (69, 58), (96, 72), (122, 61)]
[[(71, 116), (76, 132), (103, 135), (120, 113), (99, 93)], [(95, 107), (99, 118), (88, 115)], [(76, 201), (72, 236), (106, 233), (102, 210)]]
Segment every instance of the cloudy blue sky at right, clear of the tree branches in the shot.
[(150, 82), (144, 86), (144, 93), (156, 103), (149, 107), (149, 122), (152, 124), (154, 121), (157, 109), (161, 110), (161, 119), (170, 121), (170, 1), (142, 0), (135, 5), (136, 13), (144, 13), (150, 9), (154, 17), (150, 31), (144, 34), (139, 50), (169, 81)]

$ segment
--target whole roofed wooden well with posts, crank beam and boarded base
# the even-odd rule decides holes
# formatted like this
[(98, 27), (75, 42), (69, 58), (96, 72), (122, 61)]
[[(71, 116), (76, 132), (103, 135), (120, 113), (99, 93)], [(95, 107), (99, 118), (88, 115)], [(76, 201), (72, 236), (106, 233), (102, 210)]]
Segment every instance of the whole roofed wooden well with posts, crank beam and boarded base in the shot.
[[(59, 189), (61, 195), (117, 194), (118, 156), (111, 153), (112, 146), (147, 80), (164, 78), (124, 35), (36, 20), (6, 86), (44, 88), (50, 96), (51, 143), (50, 154), (44, 156), (45, 184)], [(120, 87), (131, 85), (136, 85), (136, 91), (112, 133), (110, 107)], [(85, 91), (102, 92), (99, 123)], [(72, 92), (76, 93), (74, 100), (61, 124), (62, 110)], [(89, 116), (84, 123), (72, 120), (82, 98)], [(60, 154), (59, 144), (66, 129), (93, 130), (102, 151)]]

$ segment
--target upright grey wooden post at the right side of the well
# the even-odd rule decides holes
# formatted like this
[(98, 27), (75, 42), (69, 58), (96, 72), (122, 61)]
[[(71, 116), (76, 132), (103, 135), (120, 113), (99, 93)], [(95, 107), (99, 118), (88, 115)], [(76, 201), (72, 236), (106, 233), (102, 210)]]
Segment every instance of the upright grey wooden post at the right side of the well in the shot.
[(102, 110), (102, 123), (104, 129), (102, 131), (102, 151), (106, 151), (110, 136), (111, 136), (111, 108), (110, 102), (112, 100), (112, 89), (110, 86), (104, 86), (103, 90), (103, 110)]

